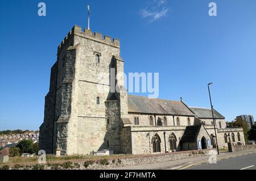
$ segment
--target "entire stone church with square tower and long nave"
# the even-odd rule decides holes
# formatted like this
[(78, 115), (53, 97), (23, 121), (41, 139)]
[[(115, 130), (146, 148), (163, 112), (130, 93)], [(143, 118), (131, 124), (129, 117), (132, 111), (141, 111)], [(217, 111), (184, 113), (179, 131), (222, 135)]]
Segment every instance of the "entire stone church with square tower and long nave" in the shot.
[[(57, 48), (45, 97), (39, 149), (47, 154), (153, 154), (244, 145), (242, 128), (226, 128), (225, 117), (209, 108), (191, 107), (182, 99), (128, 95), (123, 80), (98, 74), (123, 73), (120, 42), (74, 26)], [(97, 91), (98, 86), (107, 91)], [(214, 124), (216, 130), (214, 130)], [(216, 131), (216, 134), (215, 134)]]

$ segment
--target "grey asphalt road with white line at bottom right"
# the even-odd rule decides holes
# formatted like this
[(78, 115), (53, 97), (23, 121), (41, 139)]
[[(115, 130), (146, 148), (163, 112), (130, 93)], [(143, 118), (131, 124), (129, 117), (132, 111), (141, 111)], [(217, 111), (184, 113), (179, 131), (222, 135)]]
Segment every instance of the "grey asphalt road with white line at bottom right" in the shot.
[(184, 170), (256, 170), (256, 153), (222, 158), (217, 163), (197, 163)]

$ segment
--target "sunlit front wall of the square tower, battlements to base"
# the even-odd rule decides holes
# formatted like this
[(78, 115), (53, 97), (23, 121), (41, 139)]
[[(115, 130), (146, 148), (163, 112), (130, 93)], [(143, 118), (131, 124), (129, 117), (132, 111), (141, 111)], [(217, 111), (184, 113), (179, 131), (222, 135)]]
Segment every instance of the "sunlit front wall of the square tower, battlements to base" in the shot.
[[(102, 39), (100, 33), (82, 32), (75, 27), (75, 44), (79, 44), (77, 53), (77, 80), (79, 93), (76, 108), (78, 110), (77, 153), (90, 154), (90, 151), (111, 149), (119, 153), (120, 105), (108, 102), (110, 94), (110, 68), (113, 56), (119, 56), (119, 41)], [(96, 54), (100, 62), (96, 62)], [(97, 98), (100, 102), (97, 103)], [(108, 123), (109, 121), (109, 123)]]

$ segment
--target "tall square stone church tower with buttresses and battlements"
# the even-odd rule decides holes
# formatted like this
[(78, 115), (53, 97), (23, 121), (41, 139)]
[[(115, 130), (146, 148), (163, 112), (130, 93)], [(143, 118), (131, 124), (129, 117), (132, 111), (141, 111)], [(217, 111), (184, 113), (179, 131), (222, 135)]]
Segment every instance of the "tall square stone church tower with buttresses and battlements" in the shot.
[(123, 79), (113, 79), (119, 73), (119, 40), (73, 27), (59, 45), (51, 69), (40, 149), (47, 154), (56, 149), (69, 155), (104, 149), (119, 153), (122, 117), (128, 114)]

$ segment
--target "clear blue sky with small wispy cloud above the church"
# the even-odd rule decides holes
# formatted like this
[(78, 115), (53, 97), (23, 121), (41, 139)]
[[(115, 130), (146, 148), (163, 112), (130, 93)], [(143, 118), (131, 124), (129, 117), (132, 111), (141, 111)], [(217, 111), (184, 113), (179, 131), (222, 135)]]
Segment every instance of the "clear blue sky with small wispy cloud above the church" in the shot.
[[(46, 17), (37, 14), (39, 2)], [(126, 73), (159, 73), (159, 98), (210, 107), (213, 82), (213, 106), (226, 120), (256, 116), (254, 0), (10, 0), (0, 6), (0, 130), (43, 123), (57, 46), (73, 25), (86, 26), (88, 4), (92, 31), (121, 40)]]

